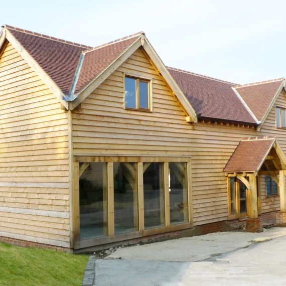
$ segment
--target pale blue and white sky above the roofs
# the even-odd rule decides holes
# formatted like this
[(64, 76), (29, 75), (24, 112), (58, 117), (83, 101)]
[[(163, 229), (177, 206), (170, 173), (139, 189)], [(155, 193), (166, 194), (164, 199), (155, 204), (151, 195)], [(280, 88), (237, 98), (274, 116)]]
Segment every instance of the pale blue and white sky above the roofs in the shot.
[(1, 24), (97, 46), (139, 31), (168, 66), (248, 83), (286, 77), (286, 1), (3, 1)]

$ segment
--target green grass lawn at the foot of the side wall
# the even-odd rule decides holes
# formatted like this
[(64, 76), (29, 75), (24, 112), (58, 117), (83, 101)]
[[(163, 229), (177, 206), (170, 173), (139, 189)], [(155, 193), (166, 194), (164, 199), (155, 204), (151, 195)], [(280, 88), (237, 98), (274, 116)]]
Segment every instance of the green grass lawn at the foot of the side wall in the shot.
[(0, 243), (0, 285), (80, 286), (87, 261), (87, 255)]

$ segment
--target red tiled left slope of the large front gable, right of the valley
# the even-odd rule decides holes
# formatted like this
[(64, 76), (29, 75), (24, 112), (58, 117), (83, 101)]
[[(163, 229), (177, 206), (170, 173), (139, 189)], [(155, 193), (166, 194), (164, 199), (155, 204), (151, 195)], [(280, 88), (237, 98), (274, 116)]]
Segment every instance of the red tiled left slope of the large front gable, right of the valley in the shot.
[(101, 71), (105, 70), (107, 66), (116, 60), (130, 45), (140, 38), (142, 34), (144, 33), (136, 33), (84, 52), (83, 64), (75, 92), (81, 90)]

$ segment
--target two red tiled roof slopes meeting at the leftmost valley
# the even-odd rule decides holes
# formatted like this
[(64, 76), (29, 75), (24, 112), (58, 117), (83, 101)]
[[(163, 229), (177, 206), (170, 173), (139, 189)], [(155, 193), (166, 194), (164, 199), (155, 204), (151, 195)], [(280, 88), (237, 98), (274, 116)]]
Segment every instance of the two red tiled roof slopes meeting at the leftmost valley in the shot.
[(71, 90), (79, 60), (83, 54), (84, 59), (76, 91), (88, 84), (144, 34), (139, 32), (92, 48), (8, 25), (4, 27), (20, 42), (64, 94), (68, 94)]

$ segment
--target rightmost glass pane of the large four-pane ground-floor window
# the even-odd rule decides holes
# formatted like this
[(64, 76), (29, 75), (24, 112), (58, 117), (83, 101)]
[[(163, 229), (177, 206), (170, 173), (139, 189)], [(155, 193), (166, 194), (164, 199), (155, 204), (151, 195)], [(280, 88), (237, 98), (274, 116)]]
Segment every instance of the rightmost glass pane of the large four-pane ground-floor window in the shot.
[(188, 222), (187, 164), (169, 163), (170, 222)]

